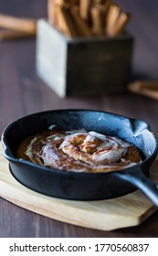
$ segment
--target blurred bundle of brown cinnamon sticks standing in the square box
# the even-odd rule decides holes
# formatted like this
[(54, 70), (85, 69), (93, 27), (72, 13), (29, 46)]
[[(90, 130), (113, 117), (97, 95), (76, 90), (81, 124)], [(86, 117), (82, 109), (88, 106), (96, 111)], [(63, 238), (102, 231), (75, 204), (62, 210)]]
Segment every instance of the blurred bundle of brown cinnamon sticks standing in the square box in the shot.
[(47, 17), (67, 37), (115, 37), (131, 16), (112, 0), (47, 0)]

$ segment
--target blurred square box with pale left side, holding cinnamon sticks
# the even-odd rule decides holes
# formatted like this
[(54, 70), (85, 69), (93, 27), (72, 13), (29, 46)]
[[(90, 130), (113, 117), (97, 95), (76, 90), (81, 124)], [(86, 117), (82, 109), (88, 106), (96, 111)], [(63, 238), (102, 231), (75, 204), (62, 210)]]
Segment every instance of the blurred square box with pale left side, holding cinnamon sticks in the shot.
[(37, 22), (37, 75), (59, 97), (122, 92), (130, 79), (133, 38), (68, 38)]

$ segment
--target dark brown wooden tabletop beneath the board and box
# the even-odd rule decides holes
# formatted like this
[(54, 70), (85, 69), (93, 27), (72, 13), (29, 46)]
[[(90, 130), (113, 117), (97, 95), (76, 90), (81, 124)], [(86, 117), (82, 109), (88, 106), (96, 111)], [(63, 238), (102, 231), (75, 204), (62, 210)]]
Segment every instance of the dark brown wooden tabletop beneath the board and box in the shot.
[[(47, 16), (46, 0), (1, 0), (0, 12), (15, 16)], [(135, 38), (133, 79), (158, 80), (157, 1), (118, 0), (132, 13), (128, 30)], [(116, 112), (151, 123), (158, 135), (158, 101), (135, 94), (60, 99), (35, 70), (36, 40), (0, 42), (0, 133), (8, 123), (32, 112), (84, 108)], [(0, 237), (158, 237), (158, 212), (139, 227), (105, 232), (48, 219), (0, 197)]]

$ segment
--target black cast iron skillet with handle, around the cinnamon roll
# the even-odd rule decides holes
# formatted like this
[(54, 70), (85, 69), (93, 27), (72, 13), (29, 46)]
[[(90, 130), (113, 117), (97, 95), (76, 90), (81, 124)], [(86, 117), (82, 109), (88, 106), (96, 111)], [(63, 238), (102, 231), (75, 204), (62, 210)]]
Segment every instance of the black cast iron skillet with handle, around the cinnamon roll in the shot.
[[(140, 149), (143, 161), (120, 171), (90, 174), (59, 171), (16, 158), (20, 142), (29, 135), (50, 129), (53, 124), (64, 130), (85, 128), (119, 136)], [(7, 126), (2, 142), (12, 175), (39, 193), (66, 199), (97, 200), (120, 197), (139, 188), (158, 207), (158, 184), (147, 177), (157, 155), (158, 144), (150, 126), (141, 120), (88, 110), (38, 112)]]

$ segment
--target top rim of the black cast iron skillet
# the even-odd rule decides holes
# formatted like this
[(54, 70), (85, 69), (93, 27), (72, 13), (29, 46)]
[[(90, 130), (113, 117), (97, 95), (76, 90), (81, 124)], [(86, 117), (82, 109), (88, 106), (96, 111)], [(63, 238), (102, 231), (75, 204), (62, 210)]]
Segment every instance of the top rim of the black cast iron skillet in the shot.
[[(25, 159), (22, 159), (22, 158), (16, 158), (16, 156), (14, 156), (14, 154), (12, 153), (12, 151), (11, 151), (7, 141), (6, 141), (6, 138), (5, 138), (6, 133), (8, 133), (8, 131), (10, 130), (10, 128), (12, 126), (14, 126), (16, 123), (19, 123), (22, 120), (28, 119), (29, 117), (33, 117), (33, 116), (36, 116), (36, 115), (40, 116), (40, 115), (48, 114), (48, 113), (51, 113), (51, 112), (100, 112), (100, 113), (107, 113), (111, 116), (120, 117), (122, 119), (127, 119), (127, 120), (130, 120), (132, 122), (139, 121), (139, 122), (145, 123), (146, 124), (145, 129), (153, 135), (153, 139), (154, 139), (154, 142), (155, 142), (155, 147), (154, 147), (154, 150), (153, 150), (153, 154), (146, 157), (139, 164), (136, 164), (136, 165), (133, 165), (133, 166), (130, 166), (130, 167), (126, 167), (126, 168), (121, 168), (121, 169), (116, 170), (116, 171), (105, 172), (105, 173), (101, 173), (101, 172), (100, 173), (95, 173), (95, 172), (94, 173), (90, 173), (90, 172), (81, 172), (81, 173), (79, 173), (79, 172), (73, 172), (73, 171), (67, 171), (67, 170), (58, 170), (56, 168), (50, 168), (50, 167), (47, 167), (47, 166), (37, 165), (37, 164), (34, 164), (34, 163), (29, 162), (29, 161), (27, 161)], [(3, 144), (3, 147), (4, 147), (5, 158), (9, 162), (31, 166), (33, 168), (36, 168), (36, 169), (40, 170), (40, 171), (45, 171), (47, 173), (53, 173), (53, 175), (62, 175), (62, 176), (105, 176), (105, 175), (108, 175), (108, 174), (111, 174), (111, 173), (112, 174), (114, 174), (114, 173), (125, 173), (127, 170), (131, 171), (133, 169), (133, 167), (134, 168), (138, 167), (138, 168), (142, 169), (143, 165), (146, 165), (146, 163), (148, 163), (149, 161), (152, 160), (152, 162), (153, 162), (157, 153), (158, 153), (158, 138), (152, 132), (151, 125), (149, 123), (143, 121), (142, 119), (131, 118), (131, 117), (127, 117), (125, 115), (121, 115), (121, 114), (114, 113), (114, 112), (105, 112), (105, 111), (100, 111), (100, 110), (78, 109), (78, 108), (77, 109), (48, 110), (48, 111), (44, 111), (44, 112), (33, 112), (33, 113), (28, 114), (28, 115), (25, 115), (21, 118), (16, 119), (14, 122), (8, 124), (5, 127), (5, 129), (4, 129), (4, 131), (1, 135), (1, 141), (2, 141), (2, 144)]]

